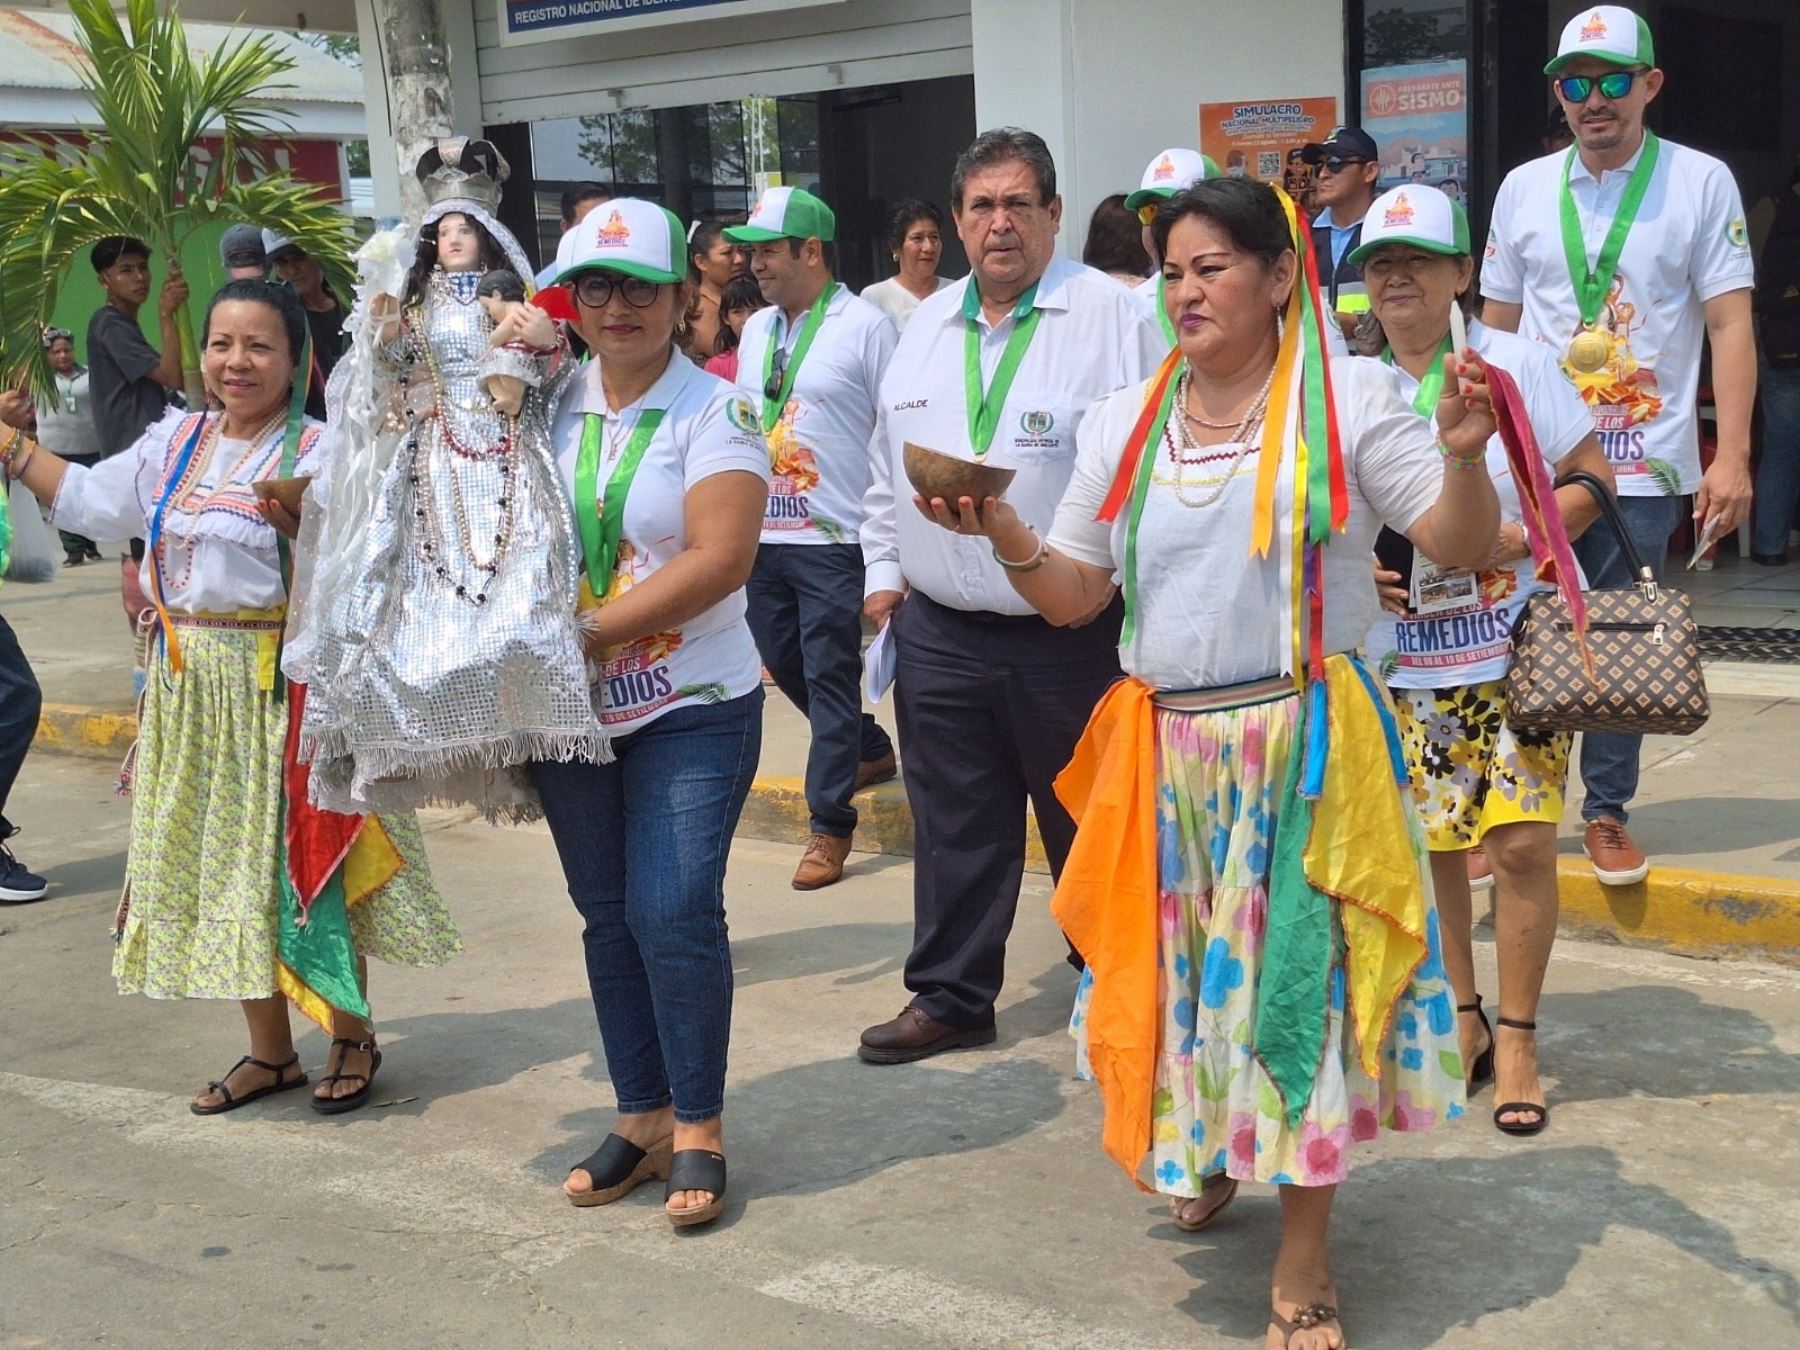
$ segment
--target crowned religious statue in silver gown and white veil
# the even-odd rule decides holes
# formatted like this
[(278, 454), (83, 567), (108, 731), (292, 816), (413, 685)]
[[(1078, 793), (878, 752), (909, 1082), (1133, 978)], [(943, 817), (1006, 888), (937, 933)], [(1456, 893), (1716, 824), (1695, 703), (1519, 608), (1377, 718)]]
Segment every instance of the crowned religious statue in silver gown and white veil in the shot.
[(328, 477), (304, 517), (286, 668), (311, 689), (320, 805), (531, 812), (529, 760), (605, 758), (574, 630), (578, 567), (549, 450), (572, 371), (495, 220), (506, 160), (441, 140), (418, 230), (358, 254), (355, 346), (331, 374)]

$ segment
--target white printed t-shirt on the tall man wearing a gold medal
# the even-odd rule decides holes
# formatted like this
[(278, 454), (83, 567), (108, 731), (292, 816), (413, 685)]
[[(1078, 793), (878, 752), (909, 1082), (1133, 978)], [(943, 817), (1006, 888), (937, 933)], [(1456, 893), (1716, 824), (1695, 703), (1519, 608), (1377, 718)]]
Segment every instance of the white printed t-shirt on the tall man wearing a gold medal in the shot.
[[(1481, 265), (1481, 293), (1523, 304), (1519, 333), (1548, 344), (1593, 412), (1624, 497), (1699, 488), (1701, 344), (1706, 301), (1751, 284), (1750, 236), (1732, 171), (1710, 155), (1663, 140), (1656, 173), (1625, 238), (1598, 329), (1611, 358), (1591, 374), (1566, 362), (1580, 310), (1562, 250), (1562, 164), (1544, 155), (1507, 175)], [(1618, 212), (1643, 148), (1597, 180), (1575, 155), (1570, 194), (1588, 241), (1588, 266)]]

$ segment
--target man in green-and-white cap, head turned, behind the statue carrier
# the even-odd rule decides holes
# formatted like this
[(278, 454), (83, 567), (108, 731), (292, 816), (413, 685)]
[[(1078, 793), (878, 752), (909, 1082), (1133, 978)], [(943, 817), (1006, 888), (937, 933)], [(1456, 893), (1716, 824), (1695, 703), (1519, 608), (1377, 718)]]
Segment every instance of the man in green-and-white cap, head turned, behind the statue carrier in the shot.
[(751, 572), (749, 621), (776, 686), (812, 724), (812, 837), (796, 891), (844, 875), (857, 788), (895, 776), (895, 747), (862, 711), (862, 497), (875, 400), (898, 333), (832, 275), (837, 218), (801, 187), (770, 187), (743, 225), (767, 310), (743, 324), (738, 385), (769, 437), (769, 508)]

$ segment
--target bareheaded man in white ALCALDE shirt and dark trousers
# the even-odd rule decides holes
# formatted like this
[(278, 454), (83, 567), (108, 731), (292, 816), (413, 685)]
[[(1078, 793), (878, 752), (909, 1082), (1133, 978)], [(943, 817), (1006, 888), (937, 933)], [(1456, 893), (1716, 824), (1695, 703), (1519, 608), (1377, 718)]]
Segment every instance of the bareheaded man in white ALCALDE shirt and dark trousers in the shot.
[(862, 1033), (873, 1064), (994, 1040), (1026, 801), (1060, 873), (1075, 826), (1051, 783), (1120, 670), (1116, 598), (1084, 626), (1049, 626), (986, 540), (914, 509), (905, 445), (1017, 468), (1006, 499), (1046, 533), (1089, 405), (1143, 380), (1166, 351), (1138, 297), (1057, 257), (1062, 198), (1040, 137), (976, 137), (950, 202), (972, 274), (920, 304), (900, 337), (862, 524), (866, 612), (895, 625), (914, 828), (913, 1001)]

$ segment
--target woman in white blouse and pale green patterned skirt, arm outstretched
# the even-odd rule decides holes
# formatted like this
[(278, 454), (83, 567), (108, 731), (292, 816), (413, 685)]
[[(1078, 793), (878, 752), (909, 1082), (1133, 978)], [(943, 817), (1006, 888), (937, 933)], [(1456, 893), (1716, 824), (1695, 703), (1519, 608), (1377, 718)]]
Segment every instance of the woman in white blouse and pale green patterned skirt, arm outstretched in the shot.
[[(144, 589), (164, 625), (139, 715), (113, 974), (122, 994), (241, 1003), (250, 1053), (194, 1096), (202, 1116), (306, 1084), (288, 997), (333, 1037), (313, 1109), (364, 1105), (380, 1066), (365, 958), (437, 965), (457, 950), (410, 815), (326, 823), (335, 868), (283, 851), (284, 821), (290, 841), (317, 837), (297, 833), (311, 821), (304, 794), (284, 792), (304, 781), (283, 754), (302, 693), (279, 688), (275, 668), (288, 592), (270, 511), (284, 531), (297, 520), (252, 484), (319, 470), (319, 425), (293, 396), (304, 351), (293, 292), (234, 281), (207, 308), (200, 358), (221, 412), (171, 410), (94, 468), (0, 437), (0, 463), (54, 524), (149, 540)], [(23, 423), (20, 396), (0, 394), (0, 419)]]

